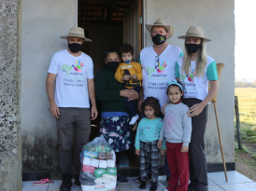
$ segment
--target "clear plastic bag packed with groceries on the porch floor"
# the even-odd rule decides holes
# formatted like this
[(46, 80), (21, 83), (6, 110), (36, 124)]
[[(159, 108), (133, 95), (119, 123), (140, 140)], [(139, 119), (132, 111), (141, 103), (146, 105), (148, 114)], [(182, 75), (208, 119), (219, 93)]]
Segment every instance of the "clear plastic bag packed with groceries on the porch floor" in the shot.
[(80, 153), (82, 185), (111, 184), (116, 182), (116, 156), (103, 136), (85, 144)]

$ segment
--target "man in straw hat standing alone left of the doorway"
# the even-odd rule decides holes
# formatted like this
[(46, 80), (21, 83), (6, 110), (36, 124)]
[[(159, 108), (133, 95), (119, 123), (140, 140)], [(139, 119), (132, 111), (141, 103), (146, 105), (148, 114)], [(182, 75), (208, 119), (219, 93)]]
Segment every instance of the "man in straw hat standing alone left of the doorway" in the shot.
[[(56, 118), (57, 136), (60, 143), (59, 160), (63, 173), (60, 190), (70, 191), (73, 132), (75, 137), (75, 184), (79, 185), (79, 153), (82, 146), (89, 142), (91, 119), (95, 119), (98, 112), (95, 102), (92, 59), (80, 51), (84, 42), (92, 42), (92, 40), (84, 36), (84, 30), (80, 27), (72, 27), (68, 35), (61, 36), (61, 38), (67, 39), (68, 48), (53, 55), (46, 87), (50, 102), (50, 114)], [(53, 82), (55, 78), (54, 97)], [(91, 111), (89, 98), (92, 103)]]

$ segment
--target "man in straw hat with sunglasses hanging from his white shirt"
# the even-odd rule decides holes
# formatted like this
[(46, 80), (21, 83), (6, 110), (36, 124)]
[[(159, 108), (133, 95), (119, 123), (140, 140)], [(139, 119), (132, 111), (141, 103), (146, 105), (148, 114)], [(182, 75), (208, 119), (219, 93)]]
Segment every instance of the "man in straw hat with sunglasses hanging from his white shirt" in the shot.
[[(140, 52), (140, 63), (142, 66), (142, 89), (140, 92), (141, 103), (152, 96), (159, 100), (161, 107), (168, 101), (166, 95), (167, 83), (175, 80), (176, 62), (183, 52), (180, 48), (168, 45), (166, 39), (174, 34), (174, 28), (168, 25), (162, 19), (155, 20), (153, 24), (146, 24), (146, 28), (152, 38), (153, 46), (143, 48)], [(164, 117), (162, 115), (162, 117)], [(170, 177), (166, 157), (164, 163), (166, 169), (166, 179)], [(153, 173), (153, 172), (152, 172)], [(150, 176), (150, 175), (149, 175)], [(137, 179), (137, 182), (140, 180)]]

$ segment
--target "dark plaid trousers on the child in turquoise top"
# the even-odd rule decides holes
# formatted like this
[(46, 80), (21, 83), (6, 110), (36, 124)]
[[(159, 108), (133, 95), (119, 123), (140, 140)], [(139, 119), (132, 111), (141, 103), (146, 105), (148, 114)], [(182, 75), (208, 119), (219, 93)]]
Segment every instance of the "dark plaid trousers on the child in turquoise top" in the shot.
[(159, 174), (159, 154), (160, 149), (157, 146), (158, 141), (154, 142), (140, 142), (140, 178), (141, 180), (148, 179), (148, 167), (149, 163), (151, 164), (151, 181), (153, 183), (158, 182)]

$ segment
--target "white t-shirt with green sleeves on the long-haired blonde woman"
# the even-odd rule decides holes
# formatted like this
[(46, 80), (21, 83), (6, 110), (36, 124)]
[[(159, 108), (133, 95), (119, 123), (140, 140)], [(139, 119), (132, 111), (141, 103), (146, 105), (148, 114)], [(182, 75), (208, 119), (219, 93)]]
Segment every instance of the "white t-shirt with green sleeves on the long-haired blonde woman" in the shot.
[(216, 62), (207, 56), (207, 63), (204, 76), (197, 76), (195, 74), (195, 62), (191, 62), (190, 74), (186, 75), (185, 71), (182, 73), (182, 63), (184, 56), (178, 59), (177, 75), (182, 84), (184, 91), (184, 99), (196, 98), (198, 100), (205, 100), (208, 94), (208, 81), (218, 80), (218, 72)]

